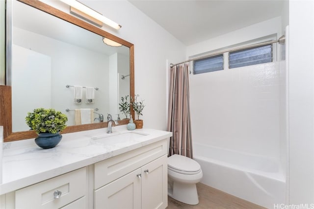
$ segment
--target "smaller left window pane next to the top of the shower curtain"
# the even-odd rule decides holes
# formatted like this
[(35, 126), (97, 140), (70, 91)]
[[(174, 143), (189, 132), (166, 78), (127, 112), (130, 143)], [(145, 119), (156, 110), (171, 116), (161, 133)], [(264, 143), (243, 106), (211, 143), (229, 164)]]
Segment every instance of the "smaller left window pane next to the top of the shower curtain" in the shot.
[(212, 72), (224, 69), (223, 54), (207, 57), (193, 62), (193, 74)]

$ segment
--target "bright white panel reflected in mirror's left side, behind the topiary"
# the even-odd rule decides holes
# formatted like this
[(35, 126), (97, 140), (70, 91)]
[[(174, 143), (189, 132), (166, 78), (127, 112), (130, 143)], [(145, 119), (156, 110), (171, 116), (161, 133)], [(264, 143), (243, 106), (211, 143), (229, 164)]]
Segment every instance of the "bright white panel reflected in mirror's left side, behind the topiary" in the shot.
[(12, 46), (12, 131), (29, 130), (27, 112), (51, 107), (51, 57)]

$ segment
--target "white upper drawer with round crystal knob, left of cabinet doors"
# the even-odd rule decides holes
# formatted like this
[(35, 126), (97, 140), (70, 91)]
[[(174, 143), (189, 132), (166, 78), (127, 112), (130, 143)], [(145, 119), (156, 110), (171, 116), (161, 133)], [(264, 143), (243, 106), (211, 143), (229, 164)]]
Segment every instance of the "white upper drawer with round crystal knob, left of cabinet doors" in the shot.
[[(86, 168), (54, 177), (44, 182), (27, 186), (15, 192), (16, 209), (51, 209), (61, 208), (85, 196)], [(59, 198), (54, 198), (54, 191), (61, 191)]]

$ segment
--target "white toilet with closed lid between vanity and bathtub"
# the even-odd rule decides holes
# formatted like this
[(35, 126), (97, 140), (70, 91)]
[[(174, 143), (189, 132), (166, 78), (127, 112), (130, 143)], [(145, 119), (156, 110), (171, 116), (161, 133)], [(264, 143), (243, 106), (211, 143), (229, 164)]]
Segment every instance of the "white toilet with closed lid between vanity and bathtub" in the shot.
[(201, 166), (182, 155), (168, 158), (168, 195), (180, 202), (196, 205), (199, 203), (196, 183), (203, 177)]

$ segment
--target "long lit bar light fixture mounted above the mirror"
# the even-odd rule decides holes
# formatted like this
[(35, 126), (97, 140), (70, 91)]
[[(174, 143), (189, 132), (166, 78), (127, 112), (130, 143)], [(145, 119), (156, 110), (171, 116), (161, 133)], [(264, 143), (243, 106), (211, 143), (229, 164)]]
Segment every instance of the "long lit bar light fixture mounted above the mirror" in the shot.
[[(96, 20), (105, 23), (106, 25), (109, 25), (110, 27), (113, 27), (117, 30), (119, 30), (121, 28), (121, 25), (118, 23), (113, 22), (112, 20), (106, 18), (105, 16), (103, 16), (102, 14), (96, 12), (95, 10), (89, 8), (88, 6), (78, 2), (77, 0), (60, 0), (66, 4), (68, 4), (71, 7), (73, 7), (76, 10), (79, 10), (80, 12), (86, 14), (87, 16), (90, 16), (92, 18), (95, 18)], [(77, 14), (77, 11), (72, 11), (71, 13), (76, 14), (84, 19), (88, 20), (88, 17), (82, 15), (82, 14)], [(91, 21), (91, 20), (88, 20)], [(94, 21), (92, 21), (94, 23)], [(97, 25), (99, 25), (99, 23), (96, 23)], [(102, 26), (102, 25), (99, 25)]]

